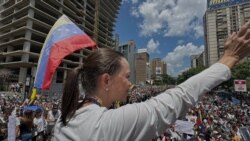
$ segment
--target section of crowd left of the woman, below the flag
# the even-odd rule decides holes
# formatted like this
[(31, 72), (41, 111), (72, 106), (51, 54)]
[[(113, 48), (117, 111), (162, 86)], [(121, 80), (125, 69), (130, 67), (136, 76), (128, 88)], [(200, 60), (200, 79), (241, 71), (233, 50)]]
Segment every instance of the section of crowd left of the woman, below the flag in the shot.
[[(0, 96), (0, 140), (8, 139), (10, 116), (15, 116), (15, 138), (21, 141), (50, 141), (60, 116), (59, 100), (37, 99), (32, 105), (17, 93)], [(12, 129), (13, 130), (13, 129)]]

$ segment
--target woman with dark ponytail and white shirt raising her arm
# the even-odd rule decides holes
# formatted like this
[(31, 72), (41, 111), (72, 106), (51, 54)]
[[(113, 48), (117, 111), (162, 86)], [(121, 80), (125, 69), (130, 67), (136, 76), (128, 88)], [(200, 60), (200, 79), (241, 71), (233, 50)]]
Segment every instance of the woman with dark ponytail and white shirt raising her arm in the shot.
[[(57, 140), (149, 140), (160, 136), (201, 97), (231, 77), (230, 69), (250, 53), (250, 22), (232, 33), (221, 59), (176, 88), (151, 99), (108, 110), (114, 101), (126, 99), (131, 83), (124, 56), (100, 48), (83, 65), (73, 69), (65, 83), (60, 120), (55, 126)], [(206, 79), (206, 80), (205, 80)], [(204, 81), (205, 80), (205, 81)], [(79, 103), (79, 81), (85, 98)]]

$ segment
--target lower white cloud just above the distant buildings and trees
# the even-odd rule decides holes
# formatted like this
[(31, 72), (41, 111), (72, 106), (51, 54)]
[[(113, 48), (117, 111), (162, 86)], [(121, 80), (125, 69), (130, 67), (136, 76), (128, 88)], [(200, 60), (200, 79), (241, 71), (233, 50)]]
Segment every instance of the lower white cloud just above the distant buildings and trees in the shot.
[(177, 76), (183, 69), (185, 69), (183, 68), (184, 64), (187, 63), (184, 62), (185, 57), (190, 58), (191, 55), (197, 55), (203, 51), (204, 45), (198, 47), (192, 43), (187, 43), (186, 45), (177, 46), (173, 52), (169, 52), (163, 58), (163, 61), (167, 63), (168, 74)]

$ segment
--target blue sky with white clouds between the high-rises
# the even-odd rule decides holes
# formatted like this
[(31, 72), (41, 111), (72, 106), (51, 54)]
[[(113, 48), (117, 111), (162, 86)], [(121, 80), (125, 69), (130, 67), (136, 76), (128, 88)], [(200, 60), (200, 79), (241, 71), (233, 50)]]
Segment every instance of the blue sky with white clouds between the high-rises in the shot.
[(190, 68), (191, 55), (204, 51), (203, 16), (207, 0), (122, 0), (114, 33), (120, 44), (134, 40), (150, 60), (161, 58), (167, 73)]

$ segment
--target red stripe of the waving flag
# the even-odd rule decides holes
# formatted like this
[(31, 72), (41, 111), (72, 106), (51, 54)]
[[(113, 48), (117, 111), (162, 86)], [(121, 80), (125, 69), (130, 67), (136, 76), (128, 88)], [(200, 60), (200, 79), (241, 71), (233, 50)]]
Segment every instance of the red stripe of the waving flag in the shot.
[(96, 47), (96, 43), (88, 35), (76, 35), (62, 41), (57, 42), (51, 48), (51, 53), (49, 56), (49, 61), (47, 64), (44, 82), (42, 89), (49, 89), (52, 76), (55, 70), (60, 65), (62, 59), (73, 53), (76, 50), (86, 48), (86, 47)]

